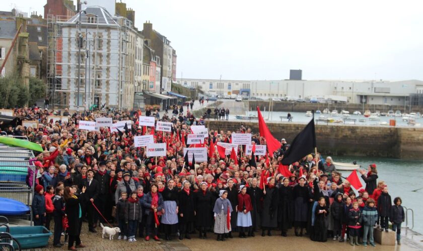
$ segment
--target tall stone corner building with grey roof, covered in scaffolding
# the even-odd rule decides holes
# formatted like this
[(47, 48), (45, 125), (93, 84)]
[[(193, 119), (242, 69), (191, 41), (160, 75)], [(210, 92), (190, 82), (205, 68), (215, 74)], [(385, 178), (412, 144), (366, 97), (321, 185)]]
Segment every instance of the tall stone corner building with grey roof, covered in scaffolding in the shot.
[(47, 96), (57, 108), (131, 109), (140, 36), (125, 17), (99, 6), (48, 15)]

